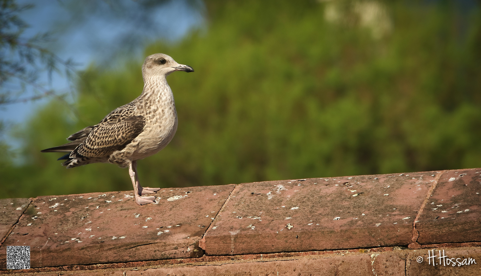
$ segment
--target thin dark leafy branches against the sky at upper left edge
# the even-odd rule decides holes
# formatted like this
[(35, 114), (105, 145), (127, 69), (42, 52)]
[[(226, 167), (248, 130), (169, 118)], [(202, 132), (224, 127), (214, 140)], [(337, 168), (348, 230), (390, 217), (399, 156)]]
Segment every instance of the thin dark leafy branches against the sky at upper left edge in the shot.
[[(19, 14), (31, 8), (32, 4), (0, 0), (0, 105), (55, 95), (55, 91), (38, 81), (39, 74), (63, 71), (70, 78), (75, 71), (71, 60), (64, 61), (42, 46), (51, 41), (49, 33), (22, 36), (28, 25)], [(24, 97), (28, 89), (33, 93)]]

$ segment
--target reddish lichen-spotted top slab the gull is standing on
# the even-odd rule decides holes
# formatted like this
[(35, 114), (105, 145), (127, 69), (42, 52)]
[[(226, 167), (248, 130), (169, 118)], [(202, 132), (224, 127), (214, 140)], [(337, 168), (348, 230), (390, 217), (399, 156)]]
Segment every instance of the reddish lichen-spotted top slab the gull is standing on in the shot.
[(199, 239), (233, 188), (167, 188), (143, 206), (132, 191), (38, 197), (0, 248), (0, 268), (7, 245), (29, 245), (31, 267), (202, 256)]

